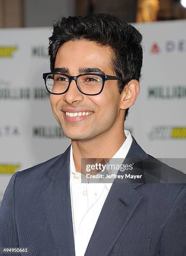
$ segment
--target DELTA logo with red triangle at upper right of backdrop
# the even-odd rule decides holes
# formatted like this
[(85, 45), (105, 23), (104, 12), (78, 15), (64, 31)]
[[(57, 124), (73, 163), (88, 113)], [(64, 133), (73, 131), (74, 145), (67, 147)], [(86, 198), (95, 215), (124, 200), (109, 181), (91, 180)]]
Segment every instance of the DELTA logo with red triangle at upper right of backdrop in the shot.
[(159, 54), (161, 52), (186, 52), (186, 40), (180, 39), (178, 41), (168, 40), (163, 46), (160, 46), (157, 42), (154, 42), (150, 47), (151, 54)]

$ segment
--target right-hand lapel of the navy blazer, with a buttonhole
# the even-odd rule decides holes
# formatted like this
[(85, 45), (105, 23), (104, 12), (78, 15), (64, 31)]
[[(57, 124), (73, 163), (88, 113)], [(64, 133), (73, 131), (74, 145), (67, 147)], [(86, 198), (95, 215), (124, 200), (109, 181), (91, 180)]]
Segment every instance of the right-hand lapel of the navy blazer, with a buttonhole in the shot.
[[(147, 157), (148, 155), (140, 148), (132, 136), (132, 144), (123, 164), (129, 161), (131, 163), (132, 159), (135, 163), (140, 163), (142, 159)], [(138, 164), (128, 173), (142, 174), (144, 177), (143, 168)], [(117, 174), (124, 174), (124, 172), (119, 171)], [(126, 180), (121, 182), (121, 179), (114, 180), (84, 256), (107, 256), (109, 254), (135, 208), (143, 198), (142, 195), (135, 191), (135, 188), (144, 183), (144, 179), (130, 183), (126, 182)]]

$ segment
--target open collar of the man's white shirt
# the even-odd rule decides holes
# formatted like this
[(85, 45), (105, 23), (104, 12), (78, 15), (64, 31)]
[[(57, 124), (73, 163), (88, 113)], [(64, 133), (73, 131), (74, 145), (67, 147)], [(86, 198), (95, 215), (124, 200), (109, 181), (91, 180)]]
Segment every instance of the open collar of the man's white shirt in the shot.
[[(122, 144), (122, 146), (118, 149), (118, 151), (115, 153), (115, 155), (112, 157), (112, 159), (121, 159), (121, 163), (123, 162), (123, 159), (127, 156), (127, 153), (130, 149), (131, 143), (132, 143), (132, 136), (130, 131), (124, 130), (125, 136), (126, 136), (126, 140), (124, 141), (124, 143)], [(112, 162), (112, 159), (110, 159), (110, 162)], [(71, 177), (73, 177), (72, 175), (74, 175), (74, 177), (81, 177), (81, 173), (76, 172), (76, 167), (74, 164), (74, 158), (73, 158), (73, 152), (72, 152), (72, 145), (70, 148), (70, 180)], [(112, 183), (106, 183), (104, 182), (104, 179), (102, 179), (102, 182), (104, 183), (105, 187), (108, 189), (108, 191), (110, 190), (110, 187), (112, 186)]]

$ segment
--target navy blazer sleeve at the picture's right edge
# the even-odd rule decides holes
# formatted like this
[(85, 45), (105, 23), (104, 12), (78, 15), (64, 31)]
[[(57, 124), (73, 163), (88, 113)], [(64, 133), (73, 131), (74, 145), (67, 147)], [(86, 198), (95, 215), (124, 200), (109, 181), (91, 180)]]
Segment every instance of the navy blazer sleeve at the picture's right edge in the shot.
[(186, 185), (174, 201), (164, 227), (161, 256), (186, 256)]

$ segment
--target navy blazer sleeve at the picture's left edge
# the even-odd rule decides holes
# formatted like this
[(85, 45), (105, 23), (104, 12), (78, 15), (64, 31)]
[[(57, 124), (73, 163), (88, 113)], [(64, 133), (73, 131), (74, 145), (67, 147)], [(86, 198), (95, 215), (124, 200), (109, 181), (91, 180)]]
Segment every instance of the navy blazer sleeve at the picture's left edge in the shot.
[[(0, 247), (19, 247), (14, 211), (14, 184), (18, 173), (15, 172), (11, 177), (0, 206)], [(20, 253), (0, 253), (0, 255), (20, 256)]]

